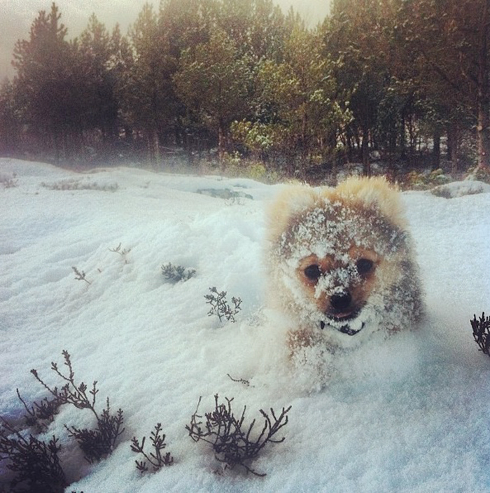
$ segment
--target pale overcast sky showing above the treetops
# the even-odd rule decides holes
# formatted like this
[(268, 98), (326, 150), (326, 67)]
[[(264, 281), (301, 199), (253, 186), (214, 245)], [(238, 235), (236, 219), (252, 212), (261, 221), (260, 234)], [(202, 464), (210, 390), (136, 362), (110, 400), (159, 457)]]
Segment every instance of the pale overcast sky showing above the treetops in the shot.
[[(148, 0), (56, 0), (62, 13), (62, 22), (68, 27), (69, 38), (78, 36), (85, 29), (92, 13), (111, 30), (119, 22), (123, 33), (136, 20)], [(283, 11), (293, 6), (309, 25), (325, 18), (330, 0), (274, 0)], [(158, 6), (159, 0), (149, 0)], [(18, 39), (28, 39), (31, 23), (38, 12), (50, 11), (51, 0), (0, 0), (0, 81), (12, 78), (10, 67), (13, 46)]]

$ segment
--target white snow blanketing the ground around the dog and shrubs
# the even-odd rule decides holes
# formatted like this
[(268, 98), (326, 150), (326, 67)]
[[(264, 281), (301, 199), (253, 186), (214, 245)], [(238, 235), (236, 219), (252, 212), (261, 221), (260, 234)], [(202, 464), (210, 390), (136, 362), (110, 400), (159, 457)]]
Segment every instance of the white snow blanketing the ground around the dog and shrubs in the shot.
[[(64, 424), (93, 426), (90, 412), (62, 408), (46, 436), (62, 443), (66, 491), (490, 491), (490, 360), (469, 324), (490, 310), (490, 193), (403, 194), (426, 320), (337, 354), (324, 386), (323, 369), (288, 365), (281, 319), (265, 308), (263, 212), (278, 186), (10, 159), (0, 176), (0, 415), (19, 422), (16, 388), (26, 401), (45, 396), (31, 368), (61, 384), (50, 363), (62, 366), (63, 349), (78, 381), (98, 381), (99, 409), (109, 396), (111, 410), (124, 410), (116, 450), (88, 465)], [(15, 186), (3, 188), (9, 179)], [(119, 244), (130, 251), (110, 250)], [(172, 284), (160, 269), (169, 262), (196, 274)], [(243, 300), (237, 323), (208, 317), (212, 286)], [(237, 413), (246, 405), (249, 421), (292, 405), (286, 440), (252, 464), (265, 478), (214, 473), (213, 453), (188, 437), (200, 396), (204, 412), (214, 394), (235, 398)], [(130, 440), (157, 422), (175, 464), (141, 475)]]

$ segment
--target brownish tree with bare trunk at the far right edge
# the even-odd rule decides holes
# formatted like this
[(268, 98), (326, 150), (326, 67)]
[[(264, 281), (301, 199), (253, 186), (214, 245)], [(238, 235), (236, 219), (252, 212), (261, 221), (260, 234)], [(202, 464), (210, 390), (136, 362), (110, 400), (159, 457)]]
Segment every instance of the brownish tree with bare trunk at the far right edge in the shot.
[(470, 120), (466, 126), (477, 130), (477, 165), (486, 169), (490, 163), (489, 24), (488, 0), (400, 4), (400, 34), (406, 48), (423, 60), (421, 85), (441, 107), (451, 109), (450, 127)]

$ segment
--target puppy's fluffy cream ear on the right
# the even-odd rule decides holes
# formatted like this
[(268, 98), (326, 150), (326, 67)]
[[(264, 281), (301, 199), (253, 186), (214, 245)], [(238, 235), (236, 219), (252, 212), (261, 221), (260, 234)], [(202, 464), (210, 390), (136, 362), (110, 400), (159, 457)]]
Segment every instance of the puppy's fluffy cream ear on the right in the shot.
[(396, 225), (405, 226), (400, 193), (384, 177), (352, 177), (339, 183), (335, 193), (340, 200), (359, 204), (365, 209), (375, 209)]

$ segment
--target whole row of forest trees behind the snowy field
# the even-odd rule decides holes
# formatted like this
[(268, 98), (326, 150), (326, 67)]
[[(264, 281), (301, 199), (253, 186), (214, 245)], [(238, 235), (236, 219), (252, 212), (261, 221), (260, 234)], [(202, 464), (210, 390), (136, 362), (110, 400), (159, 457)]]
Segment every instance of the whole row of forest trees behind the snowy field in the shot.
[(127, 35), (92, 15), (76, 39), (60, 18), (53, 3), (15, 44), (0, 153), (489, 164), (487, 0), (333, 0), (314, 28), (272, 0), (162, 0)]

